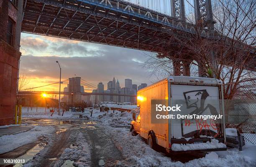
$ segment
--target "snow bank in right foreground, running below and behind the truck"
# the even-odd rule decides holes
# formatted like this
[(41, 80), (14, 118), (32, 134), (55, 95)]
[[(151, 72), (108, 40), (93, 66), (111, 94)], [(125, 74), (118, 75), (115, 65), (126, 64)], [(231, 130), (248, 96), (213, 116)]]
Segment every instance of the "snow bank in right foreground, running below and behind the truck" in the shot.
[[(205, 157), (193, 159), (187, 163), (174, 162), (165, 154), (151, 149), (138, 135), (131, 135), (128, 129), (107, 127), (110, 139), (120, 149), (125, 160), (119, 161), (116, 167), (256, 167), (256, 145), (250, 144), (238, 149), (228, 151), (210, 152)], [(213, 140), (218, 143), (218, 141)], [(224, 144), (225, 145), (225, 144)]]

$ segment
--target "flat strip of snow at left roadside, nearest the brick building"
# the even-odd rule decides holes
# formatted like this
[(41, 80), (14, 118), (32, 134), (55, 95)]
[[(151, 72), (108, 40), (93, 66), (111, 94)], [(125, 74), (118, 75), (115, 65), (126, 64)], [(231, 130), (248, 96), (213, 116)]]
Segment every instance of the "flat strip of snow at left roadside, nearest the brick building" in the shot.
[(3, 135), (0, 137), (0, 154), (10, 152), (13, 149), (21, 147), (25, 144), (33, 143), (38, 140), (38, 137), (52, 132), (54, 132), (54, 127), (52, 126), (36, 126), (26, 132)]

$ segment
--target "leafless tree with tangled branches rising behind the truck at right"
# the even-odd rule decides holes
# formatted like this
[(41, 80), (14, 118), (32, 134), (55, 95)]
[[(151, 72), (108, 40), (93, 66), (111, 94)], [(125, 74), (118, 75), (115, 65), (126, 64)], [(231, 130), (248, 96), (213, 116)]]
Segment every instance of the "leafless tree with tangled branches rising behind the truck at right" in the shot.
[[(204, 24), (197, 21), (196, 32), (170, 30), (169, 41), (156, 56), (147, 55), (144, 67), (159, 78), (186, 66), (198, 69), (199, 76), (217, 78), (224, 85), (224, 99), (248, 96), (256, 92), (256, 1), (223, 0), (214, 4), (215, 30), (202, 35)], [(167, 28), (166, 28), (167, 29)], [(181, 67), (181, 68), (180, 68)], [(187, 75), (195, 71), (190, 69)], [(189, 73), (190, 75), (190, 73)]]

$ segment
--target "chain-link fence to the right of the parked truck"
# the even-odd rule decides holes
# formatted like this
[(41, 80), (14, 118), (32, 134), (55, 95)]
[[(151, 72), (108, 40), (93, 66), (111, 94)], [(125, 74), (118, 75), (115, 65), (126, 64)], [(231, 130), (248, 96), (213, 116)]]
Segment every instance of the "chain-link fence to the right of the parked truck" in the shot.
[(248, 85), (243, 94), (225, 101), (225, 121), (226, 128), (238, 129), (246, 142), (256, 144), (256, 85)]

